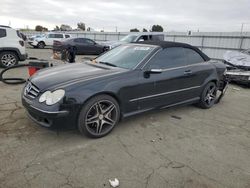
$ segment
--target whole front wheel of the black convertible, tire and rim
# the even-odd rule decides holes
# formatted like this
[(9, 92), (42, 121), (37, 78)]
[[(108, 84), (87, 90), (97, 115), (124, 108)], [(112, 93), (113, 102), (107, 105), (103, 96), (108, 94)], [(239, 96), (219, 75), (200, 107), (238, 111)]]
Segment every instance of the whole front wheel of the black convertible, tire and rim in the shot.
[(109, 95), (98, 95), (84, 104), (77, 126), (82, 134), (100, 138), (109, 134), (119, 119), (120, 107), (117, 101)]

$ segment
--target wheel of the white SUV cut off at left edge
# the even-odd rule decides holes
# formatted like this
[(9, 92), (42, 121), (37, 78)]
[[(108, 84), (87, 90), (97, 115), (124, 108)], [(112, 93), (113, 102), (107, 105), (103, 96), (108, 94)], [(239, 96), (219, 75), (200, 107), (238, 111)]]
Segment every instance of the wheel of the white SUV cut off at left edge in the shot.
[(15, 52), (0, 52), (0, 66), (3, 68), (11, 67), (18, 64), (18, 57)]

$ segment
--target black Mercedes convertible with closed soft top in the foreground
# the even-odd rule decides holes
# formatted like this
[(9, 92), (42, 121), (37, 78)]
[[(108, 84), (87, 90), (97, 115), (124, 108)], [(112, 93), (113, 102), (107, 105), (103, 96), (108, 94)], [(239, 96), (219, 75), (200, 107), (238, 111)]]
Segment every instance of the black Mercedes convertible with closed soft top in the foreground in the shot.
[(193, 103), (210, 108), (224, 88), (225, 70), (188, 44), (124, 44), (92, 62), (37, 72), (24, 87), (22, 102), (42, 126), (68, 123), (102, 137), (121, 118), (152, 109)]

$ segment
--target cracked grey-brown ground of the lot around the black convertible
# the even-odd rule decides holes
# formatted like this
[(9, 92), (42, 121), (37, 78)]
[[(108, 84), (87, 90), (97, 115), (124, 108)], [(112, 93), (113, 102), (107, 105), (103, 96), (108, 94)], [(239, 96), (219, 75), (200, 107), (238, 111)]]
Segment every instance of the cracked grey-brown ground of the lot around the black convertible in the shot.
[[(49, 59), (49, 50), (28, 49)], [(83, 57), (78, 57), (81, 60)], [(26, 69), (11, 72), (26, 75)], [(0, 83), (0, 187), (250, 187), (250, 89), (209, 110), (177, 107), (121, 122), (101, 139), (27, 118), (23, 85)]]

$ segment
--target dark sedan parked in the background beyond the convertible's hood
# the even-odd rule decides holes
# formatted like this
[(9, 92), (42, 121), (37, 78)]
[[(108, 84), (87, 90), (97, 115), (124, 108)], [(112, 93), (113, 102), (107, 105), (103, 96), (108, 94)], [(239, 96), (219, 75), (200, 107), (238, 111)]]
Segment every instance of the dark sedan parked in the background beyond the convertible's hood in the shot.
[(99, 55), (108, 50), (105, 45), (98, 44), (88, 38), (72, 38), (66, 41), (54, 41), (53, 43), (54, 51), (61, 51), (69, 47), (73, 47), (76, 55)]

